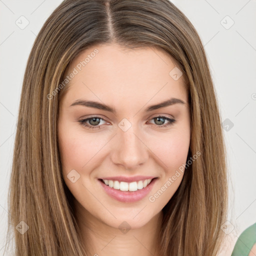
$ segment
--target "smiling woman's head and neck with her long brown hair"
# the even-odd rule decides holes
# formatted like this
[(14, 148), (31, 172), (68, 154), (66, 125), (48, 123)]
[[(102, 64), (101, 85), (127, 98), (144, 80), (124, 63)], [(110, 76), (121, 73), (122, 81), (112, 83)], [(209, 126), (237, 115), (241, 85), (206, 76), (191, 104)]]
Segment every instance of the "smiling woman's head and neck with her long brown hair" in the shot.
[(168, 0), (64, 0), (29, 55), (17, 128), (15, 255), (219, 253), (216, 95), (197, 32)]

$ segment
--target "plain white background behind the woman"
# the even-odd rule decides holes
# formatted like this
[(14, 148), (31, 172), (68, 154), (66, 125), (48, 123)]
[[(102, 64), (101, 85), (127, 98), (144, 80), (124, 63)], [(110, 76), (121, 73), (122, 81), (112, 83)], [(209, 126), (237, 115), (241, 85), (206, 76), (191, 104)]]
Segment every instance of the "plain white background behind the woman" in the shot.
[[(42, 24), (60, 2), (0, 0), (0, 255), (26, 61)], [(228, 152), (229, 216), (223, 230), (237, 238), (256, 222), (256, 0), (172, 2), (195, 26), (207, 54)], [(23, 29), (16, 24), (20, 19), (23, 25), (29, 22)]]

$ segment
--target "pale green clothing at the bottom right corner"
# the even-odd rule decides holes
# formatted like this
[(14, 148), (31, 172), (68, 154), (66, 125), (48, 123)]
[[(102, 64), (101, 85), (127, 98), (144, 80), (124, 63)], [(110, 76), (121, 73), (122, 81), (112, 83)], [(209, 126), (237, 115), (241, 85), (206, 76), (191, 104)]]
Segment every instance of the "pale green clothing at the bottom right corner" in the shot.
[(256, 223), (246, 228), (238, 237), (231, 256), (248, 256), (256, 243)]

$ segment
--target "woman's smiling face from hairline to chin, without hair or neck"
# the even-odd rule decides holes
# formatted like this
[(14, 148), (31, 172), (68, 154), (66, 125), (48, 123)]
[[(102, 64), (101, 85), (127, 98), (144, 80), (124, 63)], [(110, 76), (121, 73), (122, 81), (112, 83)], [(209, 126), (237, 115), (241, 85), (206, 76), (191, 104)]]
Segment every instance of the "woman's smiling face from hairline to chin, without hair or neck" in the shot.
[[(159, 49), (117, 44), (88, 48), (70, 63), (58, 139), (63, 178), (80, 216), (138, 228), (178, 188), (190, 120), (175, 66)], [(171, 98), (173, 104), (161, 104)]]

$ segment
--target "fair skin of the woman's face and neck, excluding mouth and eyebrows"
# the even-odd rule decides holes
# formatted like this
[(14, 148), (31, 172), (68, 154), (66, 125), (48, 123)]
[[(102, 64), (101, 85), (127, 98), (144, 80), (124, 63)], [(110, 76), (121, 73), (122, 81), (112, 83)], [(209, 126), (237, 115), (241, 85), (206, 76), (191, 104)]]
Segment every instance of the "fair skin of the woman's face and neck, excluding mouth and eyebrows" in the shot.
[[(186, 162), (190, 142), (188, 95), (183, 76), (174, 80), (169, 72), (177, 66), (164, 51), (143, 47), (127, 49), (102, 44), (86, 49), (70, 63), (69, 74), (95, 48), (98, 53), (70, 80), (60, 101), (58, 139), (64, 181), (73, 194), (75, 217), (89, 255), (157, 255), (162, 208), (178, 188), (183, 173), (153, 202), (168, 178)], [(170, 97), (176, 103), (145, 112), (146, 107)], [(116, 109), (111, 112), (73, 105), (77, 99), (94, 100)], [(100, 122), (78, 119), (98, 116)], [(167, 119), (176, 121), (166, 127)], [(126, 118), (131, 127), (123, 131), (118, 123)], [(80, 177), (67, 177), (75, 169)], [(110, 197), (98, 178), (104, 176), (153, 175), (157, 177), (147, 196), (136, 202), (120, 202)], [(130, 229), (118, 228), (126, 221)]]

